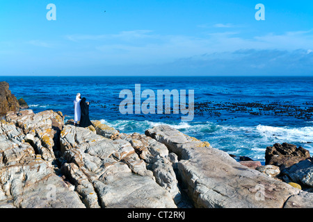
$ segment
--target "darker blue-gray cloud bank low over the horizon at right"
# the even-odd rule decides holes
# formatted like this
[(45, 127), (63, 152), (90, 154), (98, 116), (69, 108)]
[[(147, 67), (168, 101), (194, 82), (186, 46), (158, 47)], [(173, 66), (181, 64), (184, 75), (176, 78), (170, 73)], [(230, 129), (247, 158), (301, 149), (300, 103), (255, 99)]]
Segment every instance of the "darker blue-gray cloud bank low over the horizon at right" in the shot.
[(312, 75), (305, 50), (240, 50), (181, 58), (160, 67), (181, 75)]

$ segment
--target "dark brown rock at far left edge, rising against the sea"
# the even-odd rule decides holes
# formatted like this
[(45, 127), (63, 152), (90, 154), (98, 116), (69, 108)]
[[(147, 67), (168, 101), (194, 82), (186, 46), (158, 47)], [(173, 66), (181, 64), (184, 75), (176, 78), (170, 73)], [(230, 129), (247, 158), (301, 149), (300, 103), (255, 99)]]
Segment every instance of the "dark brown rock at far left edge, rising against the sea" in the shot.
[(19, 102), (16, 97), (11, 94), (9, 84), (0, 82), (0, 114), (6, 114), (8, 111), (19, 111)]

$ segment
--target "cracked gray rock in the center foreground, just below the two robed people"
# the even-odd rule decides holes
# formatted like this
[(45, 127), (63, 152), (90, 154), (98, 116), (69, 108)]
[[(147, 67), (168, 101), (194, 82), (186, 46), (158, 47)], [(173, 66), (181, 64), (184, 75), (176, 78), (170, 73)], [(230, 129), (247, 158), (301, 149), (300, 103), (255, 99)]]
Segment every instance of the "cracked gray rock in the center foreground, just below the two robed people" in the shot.
[[(177, 207), (127, 140), (67, 125), (61, 132), (61, 147), (69, 162), (63, 173), (88, 207)], [(94, 193), (99, 200), (90, 196)]]

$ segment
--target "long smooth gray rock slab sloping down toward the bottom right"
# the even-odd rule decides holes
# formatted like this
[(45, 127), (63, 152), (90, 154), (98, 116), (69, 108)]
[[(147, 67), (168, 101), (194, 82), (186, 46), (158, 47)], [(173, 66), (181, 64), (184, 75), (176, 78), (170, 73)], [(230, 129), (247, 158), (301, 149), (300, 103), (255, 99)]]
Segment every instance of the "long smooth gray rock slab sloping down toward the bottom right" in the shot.
[[(283, 207), (290, 196), (300, 192), (242, 166), (227, 153), (170, 126), (157, 126), (145, 134), (165, 144), (181, 159), (179, 176), (195, 207), (276, 208)], [(307, 193), (305, 198), (313, 198), (313, 194)]]

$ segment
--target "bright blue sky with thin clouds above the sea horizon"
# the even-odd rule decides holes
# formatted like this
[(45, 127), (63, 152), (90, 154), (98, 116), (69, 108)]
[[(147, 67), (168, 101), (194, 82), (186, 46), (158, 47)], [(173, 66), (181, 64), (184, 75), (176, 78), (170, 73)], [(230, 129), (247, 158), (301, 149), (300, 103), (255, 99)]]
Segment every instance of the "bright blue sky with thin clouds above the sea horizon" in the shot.
[(312, 12), (303, 0), (1, 0), (0, 75), (312, 76)]

